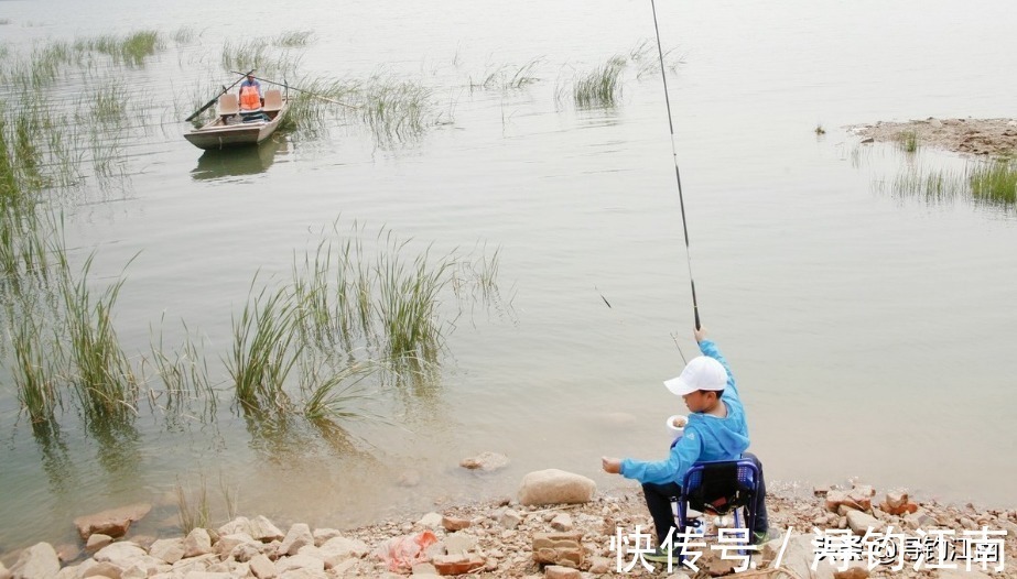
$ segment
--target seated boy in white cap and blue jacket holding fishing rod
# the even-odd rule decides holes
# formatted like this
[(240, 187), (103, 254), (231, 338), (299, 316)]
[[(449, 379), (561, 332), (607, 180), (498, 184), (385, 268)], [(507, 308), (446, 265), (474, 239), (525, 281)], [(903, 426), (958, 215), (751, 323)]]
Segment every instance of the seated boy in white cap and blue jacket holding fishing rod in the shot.
[[(769, 538), (766, 483), (759, 459), (751, 452), (745, 452), (749, 444), (748, 425), (735, 378), (716, 345), (706, 339), (706, 330), (701, 327), (694, 335), (703, 356), (693, 358), (681, 375), (664, 382), (668, 390), (682, 397), (690, 411), (683, 436), (672, 445), (664, 460), (603, 457), (602, 467), (607, 472), (642, 483), (647, 509), (657, 528), (658, 545), (662, 545), (670, 533), (681, 532), (672, 531), (674, 514), (671, 498), (681, 494), (680, 483), (692, 465), (702, 460), (751, 459), (759, 467), (759, 492), (753, 505), (756, 522), (755, 528), (750, 529), (750, 540), (753, 544), (764, 543)], [(646, 558), (663, 561), (667, 556), (666, 549), (658, 548)]]

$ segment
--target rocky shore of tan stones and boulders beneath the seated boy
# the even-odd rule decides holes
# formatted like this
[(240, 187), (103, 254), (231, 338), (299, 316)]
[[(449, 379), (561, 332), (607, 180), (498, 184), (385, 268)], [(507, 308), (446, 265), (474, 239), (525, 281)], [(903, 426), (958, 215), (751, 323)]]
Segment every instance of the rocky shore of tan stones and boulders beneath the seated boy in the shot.
[(553, 469), (528, 474), (513, 498), (360, 528), (279, 527), (251, 515), (155, 538), (131, 535), (148, 511), (129, 505), (75, 520), (77, 553), (40, 543), (3, 554), (0, 579), (1017, 577), (1017, 510), (913, 502), (861, 484), (770, 492), (767, 504), (776, 538), (747, 551), (750, 561), (714, 538), (690, 544), (702, 553), (694, 569), (675, 561), (670, 572), (640, 558), (652, 523), (638, 488), (597, 491)]

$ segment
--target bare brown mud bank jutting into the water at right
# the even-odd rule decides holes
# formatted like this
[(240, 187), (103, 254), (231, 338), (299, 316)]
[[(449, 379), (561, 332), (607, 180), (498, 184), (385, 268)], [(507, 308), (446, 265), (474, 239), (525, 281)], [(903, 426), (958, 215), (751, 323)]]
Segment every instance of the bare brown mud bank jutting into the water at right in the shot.
[(933, 146), (956, 153), (1014, 156), (1017, 153), (1015, 119), (933, 119), (907, 122), (855, 124), (846, 129), (865, 140), (902, 142), (909, 134), (918, 146)]

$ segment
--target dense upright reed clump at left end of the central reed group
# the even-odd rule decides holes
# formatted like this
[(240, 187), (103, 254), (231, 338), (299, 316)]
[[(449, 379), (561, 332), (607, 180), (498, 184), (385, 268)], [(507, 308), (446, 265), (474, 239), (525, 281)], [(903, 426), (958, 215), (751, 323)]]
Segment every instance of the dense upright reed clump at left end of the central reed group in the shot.
[(248, 299), (232, 328), (227, 369), (237, 402), (246, 412), (288, 409), (284, 386), (303, 348), (294, 340), (292, 301), (283, 291), (262, 290)]

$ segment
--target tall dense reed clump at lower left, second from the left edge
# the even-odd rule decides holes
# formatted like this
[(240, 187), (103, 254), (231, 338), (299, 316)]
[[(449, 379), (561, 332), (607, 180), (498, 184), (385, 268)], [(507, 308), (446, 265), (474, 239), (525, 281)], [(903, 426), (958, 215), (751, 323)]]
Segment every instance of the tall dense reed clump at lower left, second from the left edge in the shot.
[(120, 347), (112, 313), (123, 287), (123, 277), (94, 298), (88, 275), (95, 254), (82, 267), (77, 281), (64, 272), (61, 293), (66, 323), (66, 347), (78, 401), (89, 419), (121, 422), (137, 413), (138, 381), (130, 360)]

